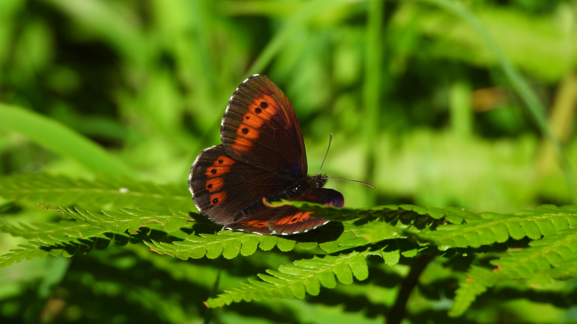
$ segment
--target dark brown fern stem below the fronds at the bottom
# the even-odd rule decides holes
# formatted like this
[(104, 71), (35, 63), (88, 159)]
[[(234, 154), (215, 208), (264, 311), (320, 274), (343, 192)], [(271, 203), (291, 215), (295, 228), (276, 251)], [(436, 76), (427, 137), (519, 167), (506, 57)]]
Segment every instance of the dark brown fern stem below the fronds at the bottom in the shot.
[(400, 324), (403, 321), (406, 313), (407, 301), (413, 289), (419, 283), (419, 277), (425, 270), (429, 262), (431, 262), (436, 254), (421, 254), (415, 258), (409, 274), (403, 279), (400, 284), (399, 293), (396, 297), (395, 304), (391, 307), (387, 314), (387, 324)]

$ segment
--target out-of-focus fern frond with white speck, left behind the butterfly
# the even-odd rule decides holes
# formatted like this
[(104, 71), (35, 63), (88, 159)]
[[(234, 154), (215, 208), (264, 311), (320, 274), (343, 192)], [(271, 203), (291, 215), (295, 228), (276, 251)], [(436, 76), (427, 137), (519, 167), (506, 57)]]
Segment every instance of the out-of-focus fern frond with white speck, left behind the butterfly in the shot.
[(176, 184), (154, 184), (100, 175), (95, 180), (48, 174), (15, 174), (0, 179), (0, 197), (87, 209), (141, 207), (196, 210), (190, 193)]

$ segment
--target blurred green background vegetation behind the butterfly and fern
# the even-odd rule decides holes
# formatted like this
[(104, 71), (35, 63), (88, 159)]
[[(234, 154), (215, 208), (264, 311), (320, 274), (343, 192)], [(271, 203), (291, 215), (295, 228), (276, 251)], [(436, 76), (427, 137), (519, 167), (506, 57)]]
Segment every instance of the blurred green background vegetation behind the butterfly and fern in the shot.
[[(261, 73), (283, 89), (297, 112), (310, 173), (320, 167), (332, 133), (323, 171), (377, 187), (329, 182), (348, 206), (415, 204), (504, 213), (574, 203), (577, 1), (458, 1), (501, 52), (479, 34), (471, 24), (475, 20), (437, 6), (443, 3), (0, 0), (0, 103), (16, 109), (14, 114), (0, 111), (0, 174), (93, 179), (108, 172), (185, 187), (197, 154), (219, 144), (220, 118), (231, 93), (244, 78)], [(539, 114), (527, 108), (527, 97), (512, 86), (503, 58), (545, 107), (545, 127), (539, 125)], [(42, 116), (110, 154), (98, 146), (70, 144), (73, 133), (58, 137), (27, 122)], [(544, 129), (563, 148), (564, 168)], [(5, 221), (53, 217), (36, 209), (0, 198)], [(21, 242), (2, 234), (0, 252)], [(72, 274), (70, 259), (63, 258), (0, 270), (0, 300), (5, 301), (0, 321), (83, 322), (92, 316), (90, 321), (111, 323), (203, 322), (205, 310), (194, 306), (200, 297), (190, 306), (184, 301), (190, 296), (174, 292), (159, 297), (166, 309), (146, 315), (143, 309), (155, 307), (114, 293), (129, 288), (102, 283), (94, 288), (95, 279), (84, 268), (98, 265), (102, 269), (95, 271), (118, 272), (133, 269), (136, 260), (145, 262), (134, 257), (136, 252), (126, 253), (75, 259)], [(267, 267), (287, 262), (279, 258)], [(174, 281), (156, 275), (158, 282)], [(85, 295), (78, 292), (78, 299), (93, 298), (94, 305), (107, 310), (114, 304), (118, 314), (111, 312), (105, 320), (90, 315), (100, 314), (98, 309), (66, 304), (64, 315), (51, 318), (48, 288), (63, 276), (70, 286), (63, 291), (83, 282)], [(173, 299), (183, 306), (171, 304)], [(354, 307), (282, 303), (286, 312), (297, 315), (278, 322), (382, 322), (380, 315)], [(258, 309), (271, 312), (270, 307)], [(509, 317), (478, 321), (577, 318), (577, 308), (535, 307), (520, 299), (508, 308)], [(529, 312), (536, 309), (538, 315)], [(310, 315), (319, 312), (326, 316)], [(272, 315), (247, 319), (238, 314), (222, 312), (216, 318), (222, 323), (275, 322)]]

